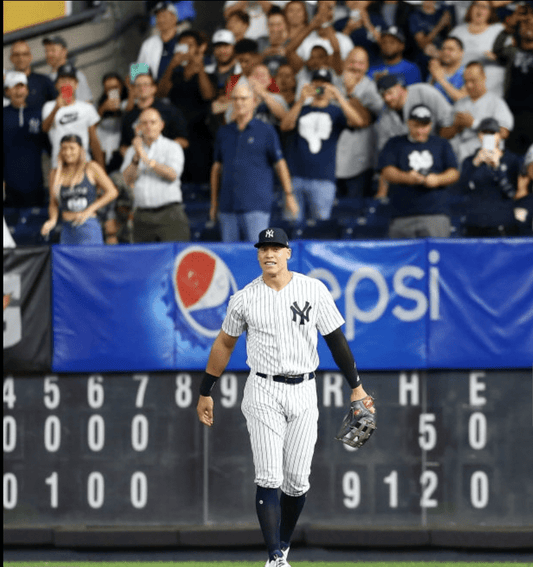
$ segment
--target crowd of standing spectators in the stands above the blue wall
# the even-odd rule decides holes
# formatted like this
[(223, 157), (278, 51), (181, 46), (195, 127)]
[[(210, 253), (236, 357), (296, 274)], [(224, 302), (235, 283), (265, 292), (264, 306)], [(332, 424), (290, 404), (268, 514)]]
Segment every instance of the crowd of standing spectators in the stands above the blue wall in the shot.
[(533, 234), (532, 1), (229, 0), (211, 36), (145, 5), (97, 100), (61, 36), (10, 46), (4, 236)]

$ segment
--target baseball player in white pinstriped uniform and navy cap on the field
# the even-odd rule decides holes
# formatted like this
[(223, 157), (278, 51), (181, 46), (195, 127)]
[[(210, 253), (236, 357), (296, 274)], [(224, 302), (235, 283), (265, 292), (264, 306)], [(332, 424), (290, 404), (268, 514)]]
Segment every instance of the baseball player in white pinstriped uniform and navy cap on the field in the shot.
[[(200, 386), (200, 421), (213, 425), (211, 390), (224, 372), (239, 335), (247, 331), (242, 411), (255, 466), (256, 510), (268, 548), (266, 567), (287, 566), (291, 536), (309, 490), (318, 434), (315, 370), (317, 330), (352, 388), (351, 401), (372, 415), (373, 400), (361, 385), (339, 313), (318, 279), (292, 272), (286, 233), (268, 228), (255, 247), (262, 275), (231, 298)], [(278, 489), (281, 488), (281, 496)]]

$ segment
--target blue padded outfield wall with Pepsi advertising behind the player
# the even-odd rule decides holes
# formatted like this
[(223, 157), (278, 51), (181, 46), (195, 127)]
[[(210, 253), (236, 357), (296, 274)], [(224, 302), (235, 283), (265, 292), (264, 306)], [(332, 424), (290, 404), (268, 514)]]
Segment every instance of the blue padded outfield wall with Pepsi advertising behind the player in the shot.
[[(533, 239), (295, 241), (363, 370), (528, 368)], [(202, 370), (250, 244), (52, 247), (55, 372)], [(320, 368), (335, 364), (323, 340)], [(244, 337), (228, 370), (245, 370)]]

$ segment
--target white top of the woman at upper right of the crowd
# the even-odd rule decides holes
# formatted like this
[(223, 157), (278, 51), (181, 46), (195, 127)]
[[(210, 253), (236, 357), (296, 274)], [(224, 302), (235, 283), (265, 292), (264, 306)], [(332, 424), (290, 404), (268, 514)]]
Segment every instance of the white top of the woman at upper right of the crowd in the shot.
[(488, 59), (485, 52), (493, 50), (494, 42), (503, 29), (503, 24), (497, 23), (491, 24), (483, 33), (472, 34), (468, 31), (468, 24), (463, 24), (450, 32), (451, 36), (463, 42), (463, 64), (466, 66), (471, 61), (482, 63), (487, 76), (487, 89), (498, 96), (503, 96), (505, 67)]

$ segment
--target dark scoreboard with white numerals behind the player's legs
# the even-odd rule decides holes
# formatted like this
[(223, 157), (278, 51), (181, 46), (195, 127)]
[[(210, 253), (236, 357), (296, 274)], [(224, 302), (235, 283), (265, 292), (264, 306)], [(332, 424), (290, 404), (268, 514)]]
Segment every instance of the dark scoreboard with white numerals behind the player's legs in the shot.
[[(256, 523), (246, 373), (196, 416), (199, 372), (4, 376), (4, 528)], [(303, 523), (531, 527), (530, 370), (364, 373), (377, 430), (334, 440), (341, 374), (317, 374), (319, 438)]]

